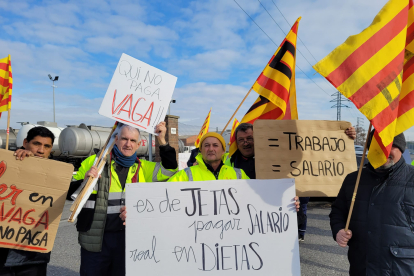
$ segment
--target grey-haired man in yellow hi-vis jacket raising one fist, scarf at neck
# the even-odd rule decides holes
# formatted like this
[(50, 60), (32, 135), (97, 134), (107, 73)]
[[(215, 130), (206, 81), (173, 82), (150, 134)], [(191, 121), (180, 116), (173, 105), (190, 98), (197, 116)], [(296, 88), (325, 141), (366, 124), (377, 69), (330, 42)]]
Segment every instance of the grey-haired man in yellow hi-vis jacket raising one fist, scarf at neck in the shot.
[[(161, 164), (137, 158), (141, 145), (138, 129), (124, 125), (117, 135), (98, 189), (78, 216), (80, 275), (125, 275), (125, 184), (165, 181), (178, 167), (175, 149), (165, 141), (165, 122), (158, 124), (155, 132), (159, 133)], [(97, 168), (92, 166), (95, 158), (93, 155), (82, 162), (76, 179), (98, 176)]]

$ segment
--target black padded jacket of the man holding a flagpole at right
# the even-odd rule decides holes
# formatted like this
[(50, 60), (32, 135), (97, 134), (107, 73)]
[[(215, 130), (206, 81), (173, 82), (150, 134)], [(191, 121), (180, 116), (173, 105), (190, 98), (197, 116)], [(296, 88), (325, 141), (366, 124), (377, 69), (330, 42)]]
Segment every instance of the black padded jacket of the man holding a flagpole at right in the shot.
[[(329, 215), (334, 239), (345, 228), (357, 172), (345, 178)], [(401, 158), (387, 172), (368, 164), (349, 225), (350, 275), (414, 275), (414, 167)]]

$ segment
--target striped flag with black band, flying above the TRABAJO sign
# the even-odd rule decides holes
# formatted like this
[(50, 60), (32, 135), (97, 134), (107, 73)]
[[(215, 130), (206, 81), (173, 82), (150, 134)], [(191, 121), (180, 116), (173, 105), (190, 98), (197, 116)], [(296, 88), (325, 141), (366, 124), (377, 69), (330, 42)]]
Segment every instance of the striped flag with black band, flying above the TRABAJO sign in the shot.
[(242, 119), (253, 124), (257, 119), (297, 120), (295, 64), (299, 21), (296, 20), (263, 72), (253, 85), (260, 94)]

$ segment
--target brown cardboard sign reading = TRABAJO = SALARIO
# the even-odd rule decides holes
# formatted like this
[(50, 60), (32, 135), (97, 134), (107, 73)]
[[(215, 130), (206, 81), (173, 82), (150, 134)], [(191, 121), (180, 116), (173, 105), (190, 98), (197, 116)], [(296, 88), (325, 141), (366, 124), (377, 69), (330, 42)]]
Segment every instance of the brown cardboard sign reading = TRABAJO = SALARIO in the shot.
[(349, 122), (257, 120), (256, 177), (295, 178), (298, 196), (336, 197), (345, 176), (356, 170)]

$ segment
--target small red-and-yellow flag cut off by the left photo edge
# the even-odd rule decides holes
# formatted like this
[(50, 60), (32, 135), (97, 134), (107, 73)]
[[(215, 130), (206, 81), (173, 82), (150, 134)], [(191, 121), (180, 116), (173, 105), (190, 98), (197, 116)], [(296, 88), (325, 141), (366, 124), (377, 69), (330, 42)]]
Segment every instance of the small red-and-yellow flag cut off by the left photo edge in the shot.
[(0, 59), (0, 117), (1, 112), (8, 111), (11, 108), (12, 88), (13, 77), (9, 55)]

